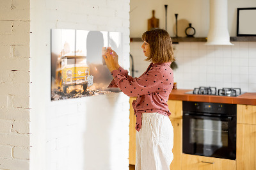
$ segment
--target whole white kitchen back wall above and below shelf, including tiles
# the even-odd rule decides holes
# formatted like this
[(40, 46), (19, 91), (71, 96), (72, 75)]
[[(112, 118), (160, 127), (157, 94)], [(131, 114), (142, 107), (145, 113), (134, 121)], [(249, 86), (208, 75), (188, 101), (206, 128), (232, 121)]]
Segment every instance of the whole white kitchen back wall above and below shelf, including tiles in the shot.
[[(146, 4), (149, 4), (146, 6)], [(160, 27), (165, 28), (164, 4), (168, 4), (168, 33), (174, 36), (174, 13), (178, 19), (188, 19), (196, 29), (195, 36), (207, 36), (209, 30), (209, 1), (134, 1), (131, 0), (131, 38), (141, 37), (147, 31), (147, 19), (156, 10)], [(170, 6), (170, 8), (169, 8)], [(236, 8), (255, 7), (256, 1), (228, 1), (228, 30), (236, 36)], [(143, 10), (142, 10), (143, 9)], [(157, 14), (158, 12), (158, 14)], [(161, 14), (160, 14), (161, 13)], [(158, 16), (157, 16), (158, 15)], [(170, 17), (169, 17), (170, 15)], [(139, 16), (139, 17), (138, 17)], [(138, 24), (141, 23), (141, 24)], [(169, 25), (170, 24), (170, 25)], [(174, 24), (174, 25), (173, 25)], [(178, 32), (179, 33), (179, 32)], [(142, 42), (131, 42), (135, 77), (148, 66), (141, 49)], [(204, 42), (180, 42), (174, 44), (175, 58), (179, 68), (174, 71), (177, 88), (193, 89), (199, 86), (216, 88), (241, 88), (244, 92), (256, 91), (256, 42), (232, 42), (234, 46), (206, 46)]]

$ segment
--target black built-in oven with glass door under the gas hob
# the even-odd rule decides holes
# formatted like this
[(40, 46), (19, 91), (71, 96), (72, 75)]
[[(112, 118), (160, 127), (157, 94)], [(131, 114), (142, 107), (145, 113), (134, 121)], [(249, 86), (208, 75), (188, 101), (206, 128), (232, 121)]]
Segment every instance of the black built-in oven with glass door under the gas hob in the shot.
[(182, 103), (183, 153), (236, 159), (236, 105)]

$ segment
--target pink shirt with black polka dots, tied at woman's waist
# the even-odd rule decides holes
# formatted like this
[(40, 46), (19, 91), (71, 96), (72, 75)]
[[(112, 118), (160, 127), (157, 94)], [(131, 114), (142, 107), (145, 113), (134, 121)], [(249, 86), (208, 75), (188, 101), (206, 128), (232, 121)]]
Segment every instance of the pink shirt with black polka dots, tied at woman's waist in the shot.
[(158, 112), (170, 116), (168, 98), (173, 88), (173, 70), (170, 63), (150, 63), (146, 72), (140, 77), (133, 78), (121, 66), (113, 70), (114, 79), (108, 88), (120, 88), (125, 95), (137, 97), (132, 102), (136, 116), (136, 130), (141, 129), (143, 112)]

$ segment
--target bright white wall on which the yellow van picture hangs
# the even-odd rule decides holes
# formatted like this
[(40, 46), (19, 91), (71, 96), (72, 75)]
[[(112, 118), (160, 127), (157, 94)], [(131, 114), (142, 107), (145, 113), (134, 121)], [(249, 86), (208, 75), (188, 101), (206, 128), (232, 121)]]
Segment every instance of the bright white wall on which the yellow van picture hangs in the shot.
[(31, 0), (30, 169), (129, 169), (129, 97), (122, 93), (51, 102), (51, 29), (124, 32), (129, 0)]

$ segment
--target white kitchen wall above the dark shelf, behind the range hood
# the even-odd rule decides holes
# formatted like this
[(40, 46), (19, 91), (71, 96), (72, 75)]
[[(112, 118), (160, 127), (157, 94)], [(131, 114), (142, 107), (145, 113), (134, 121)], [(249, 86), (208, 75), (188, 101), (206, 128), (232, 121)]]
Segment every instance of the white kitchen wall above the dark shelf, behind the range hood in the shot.
[[(196, 29), (196, 37), (207, 36), (210, 17), (209, 0), (131, 0), (131, 37), (141, 37), (147, 31), (147, 20), (152, 17), (152, 10), (155, 10), (155, 17), (159, 19), (159, 27), (165, 29), (165, 4), (168, 5), (167, 31), (170, 36), (175, 36), (175, 13), (179, 14), (178, 20), (188, 20), (189, 23), (192, 23)], [(255, 6), (255, 0), (228, 0), (228, 31), (230, 36), (236, 36), (237, 8)]]

